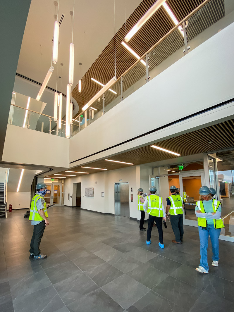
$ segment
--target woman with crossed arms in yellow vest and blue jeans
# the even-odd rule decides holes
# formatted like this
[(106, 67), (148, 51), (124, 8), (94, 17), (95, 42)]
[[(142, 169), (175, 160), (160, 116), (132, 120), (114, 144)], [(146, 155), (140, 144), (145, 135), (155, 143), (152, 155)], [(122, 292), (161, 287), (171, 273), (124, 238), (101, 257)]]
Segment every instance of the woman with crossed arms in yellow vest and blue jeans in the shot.
[(219, 235), (221, 228), (224, 227), (221, 219), (221, 203), (217, 199), (212, 199), (210, 189), (202, 186), (199, 189), (199, 201), (196, 202), (195, 213), (198, 222), (200, 237), (200, 264), (196, 271), (208, 273), (209, 266), (207, 261), (208, 238), (210, 236), (212, 245), (212, 266), (219, 265)]

